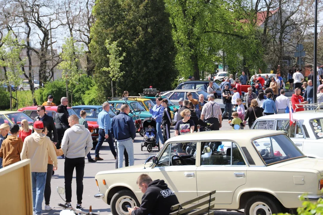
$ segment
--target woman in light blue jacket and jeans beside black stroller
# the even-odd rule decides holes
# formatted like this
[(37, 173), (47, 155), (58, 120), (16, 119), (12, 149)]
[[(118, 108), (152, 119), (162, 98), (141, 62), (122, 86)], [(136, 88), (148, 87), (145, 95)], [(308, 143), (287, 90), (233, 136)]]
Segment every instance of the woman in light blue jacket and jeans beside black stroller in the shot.
[(164, 139), (162, 137), (161, 133), (161, 120), (162, 120), (162, 113), (164, 112), (164, 107), (161, 105), (162, 98), (158, 97), (156, 99), (156, 103), (152, 108), (151, 108), (151, 103), (149, 104), (149, 112), (152, 114), (152, 118), (156, 120), (156, 129), (157, 129), (157, 137), (156, 137), (156, 143), (158, 144), (159, 140), (161, 141), (161, 145), (164, 144)]

